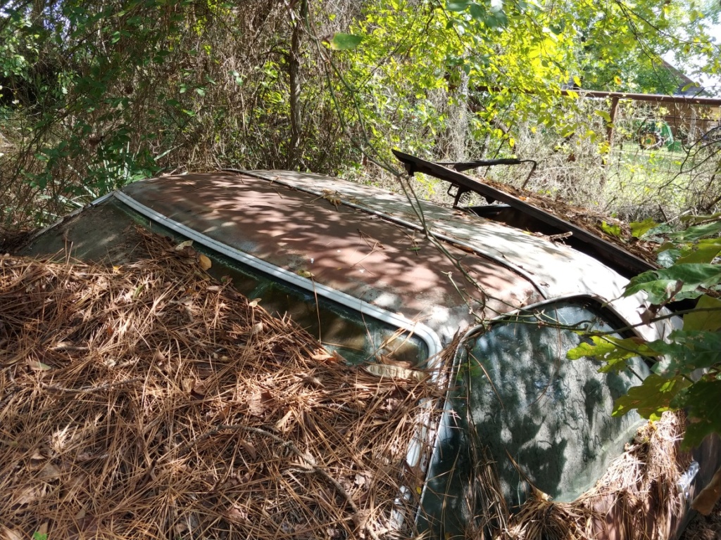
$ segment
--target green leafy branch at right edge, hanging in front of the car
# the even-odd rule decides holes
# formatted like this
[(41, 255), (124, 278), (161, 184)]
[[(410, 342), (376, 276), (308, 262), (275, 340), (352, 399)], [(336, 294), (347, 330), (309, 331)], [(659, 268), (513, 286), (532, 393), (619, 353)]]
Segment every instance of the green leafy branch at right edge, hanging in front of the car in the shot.
[[(684, 409), (689, 416), (684, 446), (692, 447), (710, 433), (721, 434), (721, 266), (715, 262), (721, 254), (721, 219), (712, 215), (685, 221), (689, 227), (671, 233), (660, 247), (668, 267), (634, 277), (624, 292), (645, 292), (651, 304), (642, 313), (647, 323), (665, 318), (662, 308), (668, 302), (696, 300), (694, 308), (682, 312), (683, 329), (657, 341), (592, 335), (591, 343), (582, 343), (568, 356), (595, 356), (605, 362), (603, 372), (625, 369), (634, 356), (653, 359), (653, 374), (616, 400), (614, 415), (637, 410), (658, 419), (667, 410)], [(653, 232), (651, 222), (634, 225), (635, 233)]]

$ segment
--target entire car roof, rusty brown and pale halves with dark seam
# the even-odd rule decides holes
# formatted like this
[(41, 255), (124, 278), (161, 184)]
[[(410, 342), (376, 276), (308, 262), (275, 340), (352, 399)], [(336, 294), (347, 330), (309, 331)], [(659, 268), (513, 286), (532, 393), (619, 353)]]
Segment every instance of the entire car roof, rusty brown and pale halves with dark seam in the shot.
[(477, 322), (474, 314), (494, 318), (557, 297), (596, 297), (640, 323), (642, 299), (619, 298), (627, 279), (591, 256), (373, 186), (294, 171), (226, 170), (162, 176), (122, 192), (218, 242), (423, 321), (443, 342)]

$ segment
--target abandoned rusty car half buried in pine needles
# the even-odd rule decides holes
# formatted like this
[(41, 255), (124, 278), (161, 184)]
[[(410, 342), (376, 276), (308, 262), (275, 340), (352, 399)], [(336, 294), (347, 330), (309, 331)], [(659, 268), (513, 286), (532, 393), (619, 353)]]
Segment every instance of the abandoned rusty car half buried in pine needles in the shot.
[[(162, 176), (98, 199), (19, 254), (122, 264), (132, 256), (128, 227), (139, 224), (177, 243), (193, 240), (213, 261), (211, 274), (231, 276), (246, 297), (381, 377), (400, 364), (432, 373), (441, 352), (456, 347), (444, 356), (454, 365), (445, 399), (434, 404), (440, 422), (407, 450), (408, 467), (420, 467), (425, 482), (399, 493), (417, 500), (417, 513), (397, 521), (426, 537), (492, 527), (492, 518), (479, 518), (490, 507), (513, 515), (531, 498), (582, 500), (644, 425), (635, 413), (611, 411), (649, 368), (636, 359), (618, 374), (600, 373), (598, 361), (566, 353), (583, 339), (578, 330), (668, 335), (675, 320), (640, 324), (643, 297), (622, 297), (627, 278), (650, 266), (458, 171), (399, 158), (409, 172), (455, 186), (455, 204), (291, 171)], [(468, 191), (507, 204), (461, 208)], [(676, 537), (717, 456), (709, 444), (679, 457), (675, 491), (637, 500), (645, 516), (633, 526), (628, 508), (598, 495), (590, 530), (603, 539)], [(480, 485), (480, 460), (494, 471), (490, 487)], [(641, 530), (629, 533), (637, 523)]]

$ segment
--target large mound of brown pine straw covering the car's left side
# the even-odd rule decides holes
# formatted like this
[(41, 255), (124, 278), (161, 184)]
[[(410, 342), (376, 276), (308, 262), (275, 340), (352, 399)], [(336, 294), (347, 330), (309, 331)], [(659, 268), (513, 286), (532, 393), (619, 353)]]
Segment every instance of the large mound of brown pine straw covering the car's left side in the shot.
[(139, 234), (119, 269), (0, 258), (0, 539), (394, 536), (435, 387), (340, 364)]

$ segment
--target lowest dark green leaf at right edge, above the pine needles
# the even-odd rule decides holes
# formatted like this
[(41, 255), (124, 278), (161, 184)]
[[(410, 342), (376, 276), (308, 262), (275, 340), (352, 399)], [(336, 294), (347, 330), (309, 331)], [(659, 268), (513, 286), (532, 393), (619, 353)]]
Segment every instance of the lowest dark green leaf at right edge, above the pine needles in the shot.
[(682, 449), (699, 446), (711, 433), (721, 434), (721, 380), (702, 379), (678, 392), (673, 408), (683, 408), (689, 417)]

